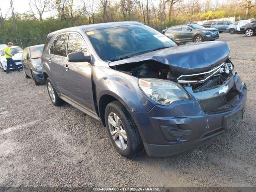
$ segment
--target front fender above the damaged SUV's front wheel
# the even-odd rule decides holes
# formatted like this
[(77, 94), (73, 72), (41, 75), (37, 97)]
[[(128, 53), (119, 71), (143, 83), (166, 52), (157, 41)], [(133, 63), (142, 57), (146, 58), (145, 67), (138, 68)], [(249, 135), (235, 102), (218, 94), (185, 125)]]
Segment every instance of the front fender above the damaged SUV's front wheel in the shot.
[(116, 98), (134, 112), (148, 112), (156, 105), (140, 90), (134, 76), (102, 66), (93, 66), (92, 76), (98, 106), (104, 95)]

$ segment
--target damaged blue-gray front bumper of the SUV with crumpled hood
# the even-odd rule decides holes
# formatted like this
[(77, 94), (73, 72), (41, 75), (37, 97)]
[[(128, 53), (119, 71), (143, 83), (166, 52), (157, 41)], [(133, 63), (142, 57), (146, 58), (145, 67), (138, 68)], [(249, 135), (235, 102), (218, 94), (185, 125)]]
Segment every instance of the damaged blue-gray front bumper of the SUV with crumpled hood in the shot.
[[(210, 142), (242, 119), (247, 92), (238, 74), (210, 90), (194, 93), (190, 86), (185, 89), (191, 100), (174, 102), (170, 106), (156, 105), (147, 113), (129, 111), (149, 156), (174, 156), (192, 150)], [(239, 95), (236, 100), (230, 99), (232, 103), (226, 103), (229, 107), (216, 107), (213, 112), (200, 102), (224, 96), (234, 89)]]

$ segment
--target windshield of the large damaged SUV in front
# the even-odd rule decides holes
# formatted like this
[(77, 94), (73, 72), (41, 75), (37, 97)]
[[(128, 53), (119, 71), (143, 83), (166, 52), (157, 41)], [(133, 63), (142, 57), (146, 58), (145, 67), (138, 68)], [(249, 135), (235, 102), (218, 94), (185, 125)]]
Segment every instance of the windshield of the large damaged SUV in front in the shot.
[(146, 25), (129, 25), (86, 32), (104, 61), (143, 54), (155, 49), (176, 46), (162, 33)]

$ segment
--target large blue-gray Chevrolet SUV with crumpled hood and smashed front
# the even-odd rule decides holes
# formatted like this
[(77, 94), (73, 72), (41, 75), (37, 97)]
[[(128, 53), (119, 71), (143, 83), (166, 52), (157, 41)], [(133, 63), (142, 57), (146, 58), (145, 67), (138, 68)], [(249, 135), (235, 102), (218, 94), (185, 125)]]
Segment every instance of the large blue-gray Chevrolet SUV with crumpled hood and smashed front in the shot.
[(113, 22), (48, 34), (42, 69), (52, 103), (100, 120), (126, 158), (173, 156), (243, 118), (246, 85), (229, 52), (225, 42), (177, 46), (140, 22)]

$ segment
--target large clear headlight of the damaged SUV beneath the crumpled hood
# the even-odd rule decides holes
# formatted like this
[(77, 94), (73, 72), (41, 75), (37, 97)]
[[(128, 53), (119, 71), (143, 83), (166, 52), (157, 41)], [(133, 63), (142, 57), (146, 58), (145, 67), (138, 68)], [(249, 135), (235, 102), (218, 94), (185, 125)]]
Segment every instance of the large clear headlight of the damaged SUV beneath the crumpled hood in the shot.
[(180, 84), (168, 80), (140, 78), (139, 86), (149, 98), (161, 105), (190, 99)]

